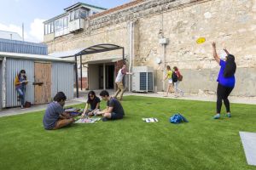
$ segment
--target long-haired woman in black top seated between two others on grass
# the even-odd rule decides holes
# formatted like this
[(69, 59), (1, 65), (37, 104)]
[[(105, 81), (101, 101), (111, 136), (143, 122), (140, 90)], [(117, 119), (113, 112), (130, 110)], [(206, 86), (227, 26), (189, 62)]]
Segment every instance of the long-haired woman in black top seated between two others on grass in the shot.
[[(88, 93), (88, 99), (84, 108), (84, 113), (82, 116), (97, 116), (97, 112), (100, 111), (101, 99), (98, 98), (94, 91)], [(90, 105), (90, 109), (89, 109)]]

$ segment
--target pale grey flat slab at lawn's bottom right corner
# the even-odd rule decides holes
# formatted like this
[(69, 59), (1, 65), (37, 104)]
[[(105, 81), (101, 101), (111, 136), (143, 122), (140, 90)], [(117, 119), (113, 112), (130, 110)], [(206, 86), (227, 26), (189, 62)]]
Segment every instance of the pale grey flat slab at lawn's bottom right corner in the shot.
[(239, 132), (248, 165), (256, 166), (256, 133)]

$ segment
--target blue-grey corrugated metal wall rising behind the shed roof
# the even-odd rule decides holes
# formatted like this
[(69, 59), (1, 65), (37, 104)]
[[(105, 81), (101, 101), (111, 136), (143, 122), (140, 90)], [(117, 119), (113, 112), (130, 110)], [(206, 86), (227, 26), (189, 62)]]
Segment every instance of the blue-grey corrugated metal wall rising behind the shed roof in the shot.
[(22, 42), (2, 38), (0, 38), (0, 51), (21, 54), (48, 54), (47, 46), (44, 43)]

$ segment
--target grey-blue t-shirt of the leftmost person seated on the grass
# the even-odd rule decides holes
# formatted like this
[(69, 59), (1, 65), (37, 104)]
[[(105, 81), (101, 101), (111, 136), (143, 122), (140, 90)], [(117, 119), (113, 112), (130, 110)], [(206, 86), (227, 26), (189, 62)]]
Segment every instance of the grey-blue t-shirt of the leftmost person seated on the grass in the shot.
[(55, 122), (59, 120), (61, 113), (64, 112), (63, 107), (58, 102), (51, 102), (45, 111), (43, 124), (44, 128), (49, 130), (55, 127)]

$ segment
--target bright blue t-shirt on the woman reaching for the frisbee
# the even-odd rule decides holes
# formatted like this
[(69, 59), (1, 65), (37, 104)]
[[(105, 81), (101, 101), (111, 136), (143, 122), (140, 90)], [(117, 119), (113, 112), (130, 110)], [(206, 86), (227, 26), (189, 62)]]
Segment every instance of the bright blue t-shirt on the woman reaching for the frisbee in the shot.
[(224, 69), (226, 66), (226, 62), (220, 59), (219, 65), (220, 65), (220, 70), (218, 72), (217, 82), (223, 85), (224, 87), (234, 88), (236, 83), (235, 76), (233, 75), (232, 77), (224, 77)]

